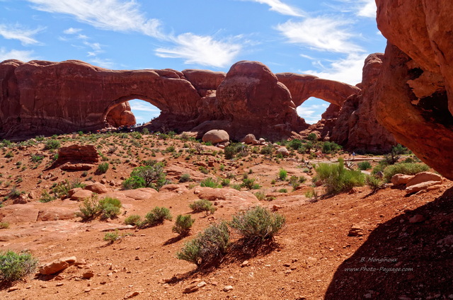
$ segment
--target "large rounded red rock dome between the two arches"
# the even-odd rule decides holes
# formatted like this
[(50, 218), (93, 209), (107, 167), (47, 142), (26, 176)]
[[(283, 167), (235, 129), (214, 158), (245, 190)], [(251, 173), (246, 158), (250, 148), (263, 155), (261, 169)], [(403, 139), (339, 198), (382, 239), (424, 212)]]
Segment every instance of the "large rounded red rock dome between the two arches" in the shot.
[(297, 115), (286, 86), (260, 62), (236, 62), (217, 88), (217, 100), (234, 139), (252, 133), (282, 139), (308, 125)]

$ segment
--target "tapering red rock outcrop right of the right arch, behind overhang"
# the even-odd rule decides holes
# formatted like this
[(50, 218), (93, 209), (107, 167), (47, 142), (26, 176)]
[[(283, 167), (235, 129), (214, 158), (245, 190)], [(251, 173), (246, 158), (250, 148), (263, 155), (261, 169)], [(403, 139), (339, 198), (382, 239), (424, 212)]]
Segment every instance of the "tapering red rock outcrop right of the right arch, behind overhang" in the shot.
[(374, 113), (376, 84), (384, 54), (370, 54), (362, 72), (362, 90), (343, 104), (331, 130), (331, 140), (349, 151), (384, 154), (395, 146), (394, 137), (377, 122)]

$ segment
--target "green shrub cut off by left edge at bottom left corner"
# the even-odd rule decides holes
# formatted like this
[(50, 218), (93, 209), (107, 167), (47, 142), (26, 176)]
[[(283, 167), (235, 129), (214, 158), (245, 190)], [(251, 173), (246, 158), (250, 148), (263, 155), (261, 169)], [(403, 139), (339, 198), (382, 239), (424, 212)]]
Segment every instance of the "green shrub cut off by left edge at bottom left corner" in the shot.
[(28, 252), (16, 253), (11, 250), (0, 252), (0, 280), (16, 282), (23, 277), (33, 274), (38, 260)]

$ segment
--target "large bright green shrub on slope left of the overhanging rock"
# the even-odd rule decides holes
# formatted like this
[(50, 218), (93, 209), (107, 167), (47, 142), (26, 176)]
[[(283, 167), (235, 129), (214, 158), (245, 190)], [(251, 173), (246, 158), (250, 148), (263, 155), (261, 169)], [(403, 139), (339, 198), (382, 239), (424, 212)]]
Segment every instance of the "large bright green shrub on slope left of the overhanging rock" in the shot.
[(365, 175), (360, 171), (347, 170), (343, 162), (343, 158), (338, 158), (338, 163), (320, 163), (316, 168), (316, 180), (326, 187), (327, 195), (346, 192), (365, 184)]

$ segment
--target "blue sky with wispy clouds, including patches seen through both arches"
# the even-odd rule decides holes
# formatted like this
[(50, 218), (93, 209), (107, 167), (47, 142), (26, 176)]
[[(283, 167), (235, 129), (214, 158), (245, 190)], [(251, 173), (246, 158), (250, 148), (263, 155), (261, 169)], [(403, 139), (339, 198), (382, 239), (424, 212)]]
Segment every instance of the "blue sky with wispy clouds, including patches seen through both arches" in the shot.
[[(384, 52), (375, 18), (374, 0), (0, 0), (0, 62), (228, 71), (246, 59), (354, 85), (367, 54)], [(159, 115), (131, 105), (137, 122)], [(297, 110), (313, 123), (326, 107)]]

